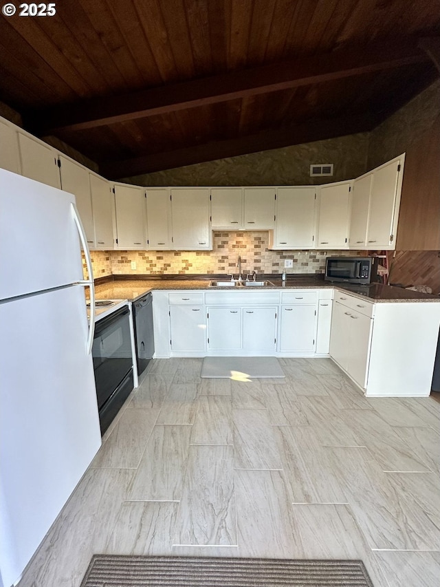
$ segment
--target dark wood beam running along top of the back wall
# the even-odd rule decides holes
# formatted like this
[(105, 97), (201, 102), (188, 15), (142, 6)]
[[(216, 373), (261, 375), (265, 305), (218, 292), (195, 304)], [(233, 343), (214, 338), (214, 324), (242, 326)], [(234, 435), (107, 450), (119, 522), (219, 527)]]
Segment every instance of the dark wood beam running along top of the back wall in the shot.
[(267, 130), (258, 134), (208, 142), (185, 149), (153, 153), (122, 161), (103, 162), (100, 164), (100, 173), (113, 180), (129, 178), (133, 175), (153, 173), (153, 171), (161, 171), (162, 169), (173, 169), (184, 165), (369, 131), (376, 124), (377, 118), (371, 114), (313, 120), (303, 122), (295, 127)]

